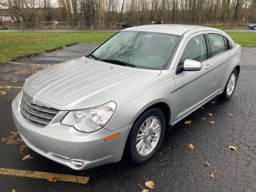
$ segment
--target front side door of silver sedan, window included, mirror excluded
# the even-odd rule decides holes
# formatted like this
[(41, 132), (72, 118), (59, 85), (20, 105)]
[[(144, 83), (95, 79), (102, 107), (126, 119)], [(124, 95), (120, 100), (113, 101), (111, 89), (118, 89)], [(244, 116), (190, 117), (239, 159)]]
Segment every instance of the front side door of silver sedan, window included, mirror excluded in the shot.
[[(182, 47), (173, 74), (176, 85), (174, 124), (202, 105), (212, 94), (212, 63), (209, 53), (204, 31), (189, 36)], [(200, 61), (202, 69), (183, 71), (186, 59)]]

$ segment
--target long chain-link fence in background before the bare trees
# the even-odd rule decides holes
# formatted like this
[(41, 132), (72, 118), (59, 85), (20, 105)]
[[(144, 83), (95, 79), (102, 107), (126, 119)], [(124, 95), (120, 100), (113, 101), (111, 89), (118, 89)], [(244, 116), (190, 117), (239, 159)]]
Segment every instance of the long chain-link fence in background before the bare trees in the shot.
[[(123, 29), (123, 25), (141, 26), (154, 24), (157, 21), (34, 21), (34, 22), (17, 22), (8, 21), (5, 26), (9, 29), (78, 29), (78, 30), (95, 30), (95, 29)], [(256, 21), (163, 21), (166, 24), (185, 24), (201, 25), (209, 27), (247, 27), (250, 23)], [(1, 24), (1, 23), (0, 23)], [(0, 25), (0, 27), (3, 27)]]

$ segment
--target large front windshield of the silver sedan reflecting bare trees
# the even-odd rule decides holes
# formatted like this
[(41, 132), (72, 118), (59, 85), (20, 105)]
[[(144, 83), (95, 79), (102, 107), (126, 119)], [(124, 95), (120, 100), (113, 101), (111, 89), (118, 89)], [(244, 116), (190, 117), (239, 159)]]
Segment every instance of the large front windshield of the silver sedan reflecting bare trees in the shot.
[(171, 34), (121, 31), (92, 54), (94, 59), (115, 61), (112, 63), (117, 65), (123, 62), (137, 68), (163, 69), (168, 65), (179, 38)]

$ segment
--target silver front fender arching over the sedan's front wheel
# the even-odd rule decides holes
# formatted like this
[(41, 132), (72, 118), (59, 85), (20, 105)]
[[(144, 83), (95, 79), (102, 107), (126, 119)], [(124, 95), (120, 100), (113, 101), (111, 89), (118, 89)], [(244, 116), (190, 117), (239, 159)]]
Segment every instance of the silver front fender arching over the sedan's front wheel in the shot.
[[(171, 114), (174, 114), (175, 91), (174, 79), (171, 76), (173, 70), (164, 70), (154, 82), (151, 82), (143, 87), (143, 91), (134, 90), (120, 100), (126, 100), (123, 105), (117, 107), (115, 114), (105, 126), (109, 131), (116, 131), (127, 125), (131, 125), (148, 107), (164, 102), (169, 108)], [(118, 102), (117, 102), (118, 103)], [(173, 121), (174, 115), (171, 115), (169, 124)]]

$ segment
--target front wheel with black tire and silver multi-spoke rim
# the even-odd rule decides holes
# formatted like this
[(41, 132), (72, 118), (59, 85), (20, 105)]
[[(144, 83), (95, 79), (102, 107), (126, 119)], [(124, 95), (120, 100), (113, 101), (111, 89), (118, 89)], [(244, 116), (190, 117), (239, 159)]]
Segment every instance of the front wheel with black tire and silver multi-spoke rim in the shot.
[(165, 133), (165, 117), (161, 109), (153, 108), (143, 113), (132, 127), (127, 142), (131, 160), (142, 164), (155, 156)]

